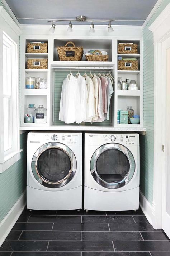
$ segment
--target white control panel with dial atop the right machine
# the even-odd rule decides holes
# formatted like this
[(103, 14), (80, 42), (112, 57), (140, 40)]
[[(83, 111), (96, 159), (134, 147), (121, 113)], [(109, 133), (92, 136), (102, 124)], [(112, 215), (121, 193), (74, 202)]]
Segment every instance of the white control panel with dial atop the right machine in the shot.
[(138, 144), (138, 134), (85, 134), (88, 137), (89, 145), (101, 145), (106, 143), (119, 143), (135, 146)]

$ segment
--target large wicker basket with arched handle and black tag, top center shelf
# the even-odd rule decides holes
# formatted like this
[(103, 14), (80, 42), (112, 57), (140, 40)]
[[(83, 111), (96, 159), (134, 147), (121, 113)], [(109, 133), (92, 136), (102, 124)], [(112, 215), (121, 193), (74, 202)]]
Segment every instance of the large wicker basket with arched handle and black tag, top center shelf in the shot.
[[(68, 44), (73, 46), (67, 46)], [(57, 51), (61, 61), (80, 61), (83, 55), (83, 47), (75, 47), (73, 42), (67, 42), (65, 46), (57, 47)]]

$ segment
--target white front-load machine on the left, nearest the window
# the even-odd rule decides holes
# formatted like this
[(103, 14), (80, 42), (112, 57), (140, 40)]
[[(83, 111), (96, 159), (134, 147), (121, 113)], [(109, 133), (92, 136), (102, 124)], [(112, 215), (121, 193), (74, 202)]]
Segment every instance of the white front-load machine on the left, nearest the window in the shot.
[(27, 208), (82, 208), (82, 133), (30, 132)]

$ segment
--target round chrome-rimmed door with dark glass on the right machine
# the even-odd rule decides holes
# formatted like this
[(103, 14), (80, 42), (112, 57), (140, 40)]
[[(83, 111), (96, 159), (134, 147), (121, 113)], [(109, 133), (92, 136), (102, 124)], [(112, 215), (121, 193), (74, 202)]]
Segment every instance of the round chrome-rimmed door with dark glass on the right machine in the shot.
[(108, 143), (98, 148), (90, 161), (90, 170), (101, 186), (116, 189), (126, 185), (135, 172), (135, 160), (128, 148)]

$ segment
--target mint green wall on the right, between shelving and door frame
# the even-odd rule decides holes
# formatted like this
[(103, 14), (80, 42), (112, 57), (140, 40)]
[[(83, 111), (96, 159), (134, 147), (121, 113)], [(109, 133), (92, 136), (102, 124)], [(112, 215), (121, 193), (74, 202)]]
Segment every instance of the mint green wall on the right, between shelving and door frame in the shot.
[(143, 126), (146, 135), (140, 135), (140, 190), (152, 204), (154, 164), (154, 46), (148, 27), (165, 9), (170, 0), (163, 0), (143, 30)]

